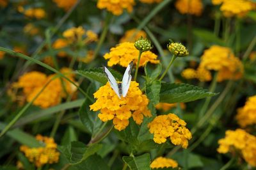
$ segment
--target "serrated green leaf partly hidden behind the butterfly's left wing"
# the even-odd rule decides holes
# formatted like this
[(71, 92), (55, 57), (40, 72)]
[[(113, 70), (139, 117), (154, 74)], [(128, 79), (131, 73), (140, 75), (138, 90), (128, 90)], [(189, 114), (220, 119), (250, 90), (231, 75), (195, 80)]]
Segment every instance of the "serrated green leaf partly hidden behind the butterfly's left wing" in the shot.
[[(110, 68), (109, 68), (109, 71), (113, 74), (116, 81), (122, 80), (122, 75), (120, 73)], [(106, 84), (106, 82), (108, 82), (108, 78), (106, 77), (102, 68), (88, 68), (85, 70), (77, 70), (77, 73), (79, 73), (79, 75), (82, 75), (83, 77), (92, 79), (102, 84)]]

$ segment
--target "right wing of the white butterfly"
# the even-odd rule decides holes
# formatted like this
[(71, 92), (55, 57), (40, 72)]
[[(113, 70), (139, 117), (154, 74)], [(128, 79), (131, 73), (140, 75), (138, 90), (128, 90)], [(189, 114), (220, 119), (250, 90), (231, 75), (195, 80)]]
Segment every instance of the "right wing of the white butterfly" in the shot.
[(133, 65), (133, 62), (131, 61), (131, 63), (129, 63), (129, 65), (126, 68), (125, 73), (124, 73), (124, 77), (122, 79), (122, 95), (123, 95), (123, 97), (126, 97), (128, 89), (129, 89), (130, 84), (131, 84), (131, 80), (132, 80), (132, 75), (131, 75), (132, 65)]

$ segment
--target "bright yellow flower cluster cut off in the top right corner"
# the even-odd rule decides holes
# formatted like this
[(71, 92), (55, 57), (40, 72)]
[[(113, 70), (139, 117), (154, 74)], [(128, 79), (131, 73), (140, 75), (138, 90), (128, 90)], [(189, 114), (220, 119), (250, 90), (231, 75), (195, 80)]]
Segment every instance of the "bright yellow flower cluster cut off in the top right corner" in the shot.
[(250, 0), (212, 0), (212, 4), (221, 4), (220, 10), (225, 17), (243, 17), (255, 9), (255, 3)]

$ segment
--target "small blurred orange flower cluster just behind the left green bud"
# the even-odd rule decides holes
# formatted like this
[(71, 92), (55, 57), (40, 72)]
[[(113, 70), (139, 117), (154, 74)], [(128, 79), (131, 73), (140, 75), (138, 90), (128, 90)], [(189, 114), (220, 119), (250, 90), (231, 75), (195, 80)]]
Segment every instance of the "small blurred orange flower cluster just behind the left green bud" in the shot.
[(137, 30), (137, 29), (130, 29), (125, 32), (124, 36), (120, 39), (120, 43), (123, 42), (136, 42), (139, 38), (147, 38), (147, 34), (145, 31)]

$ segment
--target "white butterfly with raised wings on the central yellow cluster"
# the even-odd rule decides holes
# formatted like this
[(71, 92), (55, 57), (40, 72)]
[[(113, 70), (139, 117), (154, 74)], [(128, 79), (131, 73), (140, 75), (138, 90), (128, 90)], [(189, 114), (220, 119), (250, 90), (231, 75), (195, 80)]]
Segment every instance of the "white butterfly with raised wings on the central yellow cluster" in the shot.
[(106, 73), (106, 76), (108, 77), (108, 81), (110, 83), (111, 88), (115, 91), (116, 95), (118, 95), (119, 98), (126, 97), (128, 89), (131, 84), (132, 76), (131, 76), (131, 70), (132, 70), (133, 62), (129, 63), (127, 66), (122, 83), (117, 83), (115, 77), (112, 75), (111, 72), (109, 72), (108, 68), (106, 66), (103, 67), (104, 73)]

